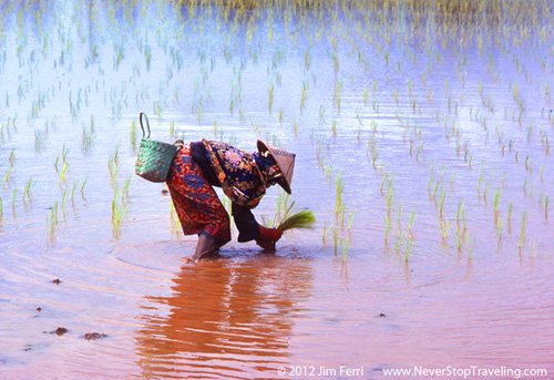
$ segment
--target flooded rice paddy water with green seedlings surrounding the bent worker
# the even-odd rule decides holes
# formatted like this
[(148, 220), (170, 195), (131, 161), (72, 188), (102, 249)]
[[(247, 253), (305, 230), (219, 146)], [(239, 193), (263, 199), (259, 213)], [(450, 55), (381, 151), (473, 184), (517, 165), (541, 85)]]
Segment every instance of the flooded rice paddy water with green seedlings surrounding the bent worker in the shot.
[[(2, 4), (0, 378), (552, 377), (550, 6), (413, 4)], [(140, 111), (296, 152), (315, 228), (184, 264)]]

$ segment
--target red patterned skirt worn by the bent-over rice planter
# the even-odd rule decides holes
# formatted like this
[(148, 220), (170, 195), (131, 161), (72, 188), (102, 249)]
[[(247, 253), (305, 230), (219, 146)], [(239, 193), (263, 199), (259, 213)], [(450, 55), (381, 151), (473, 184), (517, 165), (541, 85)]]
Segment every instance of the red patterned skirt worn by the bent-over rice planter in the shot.
[(219, 245), (230, 240), (229, 215), (191, 157), (189, 144), (175, 155), (167, 187), (185, 235), (206, 232), (217, 238)]

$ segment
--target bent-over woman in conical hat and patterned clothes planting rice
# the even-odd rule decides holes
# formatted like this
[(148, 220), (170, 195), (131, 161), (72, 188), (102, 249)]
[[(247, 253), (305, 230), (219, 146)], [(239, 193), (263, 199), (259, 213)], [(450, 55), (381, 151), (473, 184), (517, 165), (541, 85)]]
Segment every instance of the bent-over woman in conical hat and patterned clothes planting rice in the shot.
[(230, 240), (229, 216), (213, 186), (223, 188), (232, 201), (238, 242), (256, 240), (275, 249), (283, 233), (256, 222), (256, 207), (266, 188), (279, 184), (290, 194), (295, 154), (258, 141), (258, 152), (246, 153), (225, 143), (203, 140), (184, 144), (167, 177), (167, 186), (185, 235), (198, 235), (192, 259), (217, 254)]

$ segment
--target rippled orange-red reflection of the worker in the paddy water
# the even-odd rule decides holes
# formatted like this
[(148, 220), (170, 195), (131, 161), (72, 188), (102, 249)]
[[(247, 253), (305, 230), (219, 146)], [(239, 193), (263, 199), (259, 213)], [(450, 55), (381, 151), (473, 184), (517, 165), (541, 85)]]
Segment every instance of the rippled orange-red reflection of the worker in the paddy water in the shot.
[(136, 337), (143, 377), (277, 377), (311, 294), (309, 261), (219, 259), (185, 266), (173, 281), (171, 296), (146, 298)]

